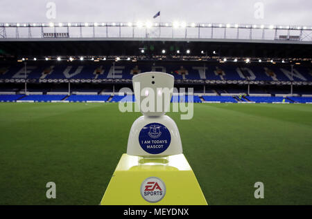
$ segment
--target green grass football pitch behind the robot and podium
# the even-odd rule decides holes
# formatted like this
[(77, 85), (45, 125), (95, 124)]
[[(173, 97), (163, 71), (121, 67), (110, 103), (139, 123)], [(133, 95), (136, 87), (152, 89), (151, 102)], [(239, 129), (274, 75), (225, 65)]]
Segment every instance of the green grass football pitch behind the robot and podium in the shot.
[[(0, 204), (99, 204), (140, 115), (113, 103), (1, 103)], [(209, 204), (312, 204), (312, 104), (194, 104), (192, 120), (168, 115)], [(51, 181), (56, 199), (46, 198)]]

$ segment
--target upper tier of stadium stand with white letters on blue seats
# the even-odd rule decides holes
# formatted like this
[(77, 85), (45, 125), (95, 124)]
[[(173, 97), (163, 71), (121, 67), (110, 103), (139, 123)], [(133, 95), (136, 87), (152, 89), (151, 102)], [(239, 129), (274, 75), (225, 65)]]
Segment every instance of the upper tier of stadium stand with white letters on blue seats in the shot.
[[(6, 74), (0, 79), (24, 79), (24, 66), (16, 64), (7, 67)], [(82, 82), (91, 82), (92, 79), (132, 79), (134, 69), (140, 72), (166, 71), (174, 75), (175, 79), (193, 80), (250, 80), (250, 81), (291, 81), (311, 82), (310, 69), (296, 66), (291, 75), (290, 66), (235, 66), (216, 65), (202, 66), (200, 64), (119, 64), (112, 66), (105, 64), (53, 64), (28, 66), (26, 75), (28, 79), (46, 80), (54, 82), (55, 79), (79, 79)], [(45, 69), (49, 68), (49, 73)], [(114, 69), (114, 70), (113, 70)], [(184, 69), (184, 70), (181, 70)], [(96, 92), (99, 92), (96, 90)]]

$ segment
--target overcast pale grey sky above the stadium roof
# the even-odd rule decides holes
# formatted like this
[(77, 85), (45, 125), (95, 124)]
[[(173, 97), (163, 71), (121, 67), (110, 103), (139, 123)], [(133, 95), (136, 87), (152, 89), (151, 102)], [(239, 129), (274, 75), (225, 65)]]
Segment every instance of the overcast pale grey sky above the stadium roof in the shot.
[[(161, 11), (162, 21), (312, 25), (311, 0), (54, 0), (56, 18), (46, 18), (46, 3), (36, 0), (1, 0), (0, 22), (146, 21)], [(263, 19), (254, 17), (254, 3), (264, 6)], [(155, 19), (155, 21), (159, 21)]]

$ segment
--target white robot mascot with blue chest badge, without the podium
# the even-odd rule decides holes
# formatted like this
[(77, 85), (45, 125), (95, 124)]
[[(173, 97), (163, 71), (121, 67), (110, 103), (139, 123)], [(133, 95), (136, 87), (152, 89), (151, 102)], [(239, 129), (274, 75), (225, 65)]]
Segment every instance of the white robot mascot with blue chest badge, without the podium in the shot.
[[(173, 93), (174, 77), (166, 73), (149, 72), (135, 75), (132, 78), (137, 103), (144, 101), (148, 95), (162, 96), (162, 110), (157, 111), (157, 104), (151, 111), (141, 108), (141, 117), (132, 124), (128, 139), (128, 155), (162, 157), (182, 153), (180, 133), (175, 122), (164, 115), (168, 111)], [(168, 98), (157, 89), (166, 88)], [(149, 92), (148, 92), (148, 89)], [(142, 95), (147, 94), (147, 95)]]

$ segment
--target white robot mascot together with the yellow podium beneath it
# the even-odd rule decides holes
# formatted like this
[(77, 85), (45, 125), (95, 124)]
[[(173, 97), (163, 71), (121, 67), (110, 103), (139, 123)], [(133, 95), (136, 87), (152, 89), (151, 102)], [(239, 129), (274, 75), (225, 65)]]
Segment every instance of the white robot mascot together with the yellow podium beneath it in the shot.
[(141, 73), (132, 77), (132, 83), (137, 106), (148, 107), (140, 107), (143, 115), (132, 124), (127, 153), (121, 156), (101, 204), (207, 204), (182, 153), (177, 125), (165, 115), (173, 75)]

